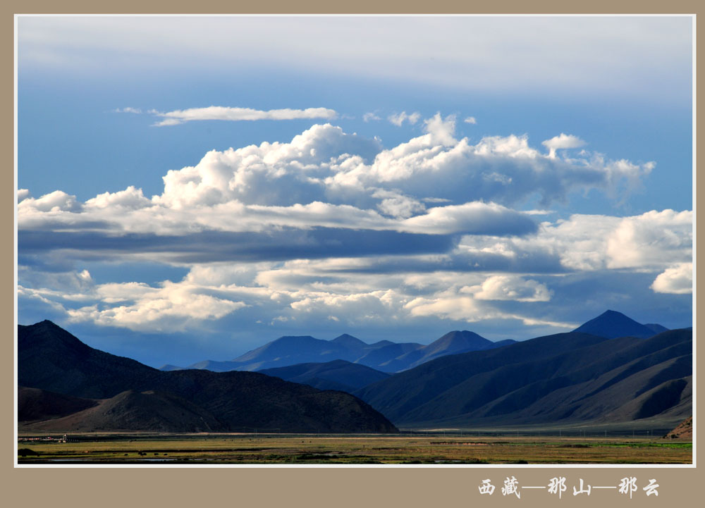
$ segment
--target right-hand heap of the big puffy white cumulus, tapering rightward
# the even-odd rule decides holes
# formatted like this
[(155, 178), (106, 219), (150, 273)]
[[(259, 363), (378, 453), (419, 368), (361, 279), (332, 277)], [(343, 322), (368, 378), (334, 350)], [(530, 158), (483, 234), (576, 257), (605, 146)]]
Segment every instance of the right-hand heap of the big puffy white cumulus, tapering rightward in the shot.
[(456, 140), (455, 119), (426, 120), (426, 134), (381, 151), (372, 163), (351, 157), (331, 164), (325, 183), (330, 197), (385, 187), (416, 199), (460, 204), (487, 199), (517, 204), (537, 196), (544, 204), (575, 190), (597, 188), (625, 194), (654, 163), (610, 161), (600, 154), (580, 159), (542, 154), (527, 136), (484, 137), (477, 144)]

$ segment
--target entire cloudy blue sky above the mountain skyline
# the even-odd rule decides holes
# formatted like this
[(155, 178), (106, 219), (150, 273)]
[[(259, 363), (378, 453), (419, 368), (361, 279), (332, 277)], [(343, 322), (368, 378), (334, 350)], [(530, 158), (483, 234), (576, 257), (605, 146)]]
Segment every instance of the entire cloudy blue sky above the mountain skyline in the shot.
[(692, 325), (688, 16), (19, 16), (18, 323), (151, 366), (281, 335)]

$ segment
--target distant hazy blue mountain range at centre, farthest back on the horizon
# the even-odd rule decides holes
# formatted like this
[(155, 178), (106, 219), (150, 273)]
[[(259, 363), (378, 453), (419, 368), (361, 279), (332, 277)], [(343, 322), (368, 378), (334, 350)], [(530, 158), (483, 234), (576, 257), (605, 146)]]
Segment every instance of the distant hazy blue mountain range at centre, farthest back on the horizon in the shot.
[[(352, 335), (344, 334), (333, 340), (320, 340), (309, 335), (300, 337), (279, 337), (262, 347), (252, 349), (231, 361), (204, 360), (188, 368), (207, 369), (214, 372), (263, 371), (268, 368), (298, 364), (326, 363), (331, 360), (345, 360), (374, 368), (383, 372), (399, 372), (407, 368), (438, 358), (479, 349), (501, 347), (514, 340), (492, 342), (464, 330), (446, 333), (429, 345), (416, 342), (390, 342), (381, 340), (367, 344)], [(174, 371), (182, 367), (165, 365), (162, 371)]]

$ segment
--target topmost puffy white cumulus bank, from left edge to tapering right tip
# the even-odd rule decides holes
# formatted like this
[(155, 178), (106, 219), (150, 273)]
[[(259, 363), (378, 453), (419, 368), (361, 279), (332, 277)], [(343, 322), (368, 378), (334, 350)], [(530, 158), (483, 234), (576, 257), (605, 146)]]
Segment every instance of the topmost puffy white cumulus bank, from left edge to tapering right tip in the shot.
[[(93, 220), (97, 209), (106, 213), (149, 209), (153, 221), (164, 218), (168, 223), (178, 211), (200, 215), (218, 213), (216, 207), (223, 206), (222, 211), (237, 216), (243, 205), (320, 202), (412, 218), (423, 216), (424, 202), (483, 201), (508, 206), (539, 197), (547, 204), (565, 199), (572, 190), (616, 192), (624, 185), (635, 185), (654, 167), (653, 163), (608, 161), (599, 154), (589, 159), (542, 154), (525, 136), (484, 137), (470, 144), (467, 138), (455, 139), (453, 117), (443, 119), (439, 114), (425, 120), (424, 129), (422, 136), (381, 149), (376, 140), (346, 134), (329, 124), (314, 125), (289, 143), (209, 151), (196, 166), (168, 171), (164, 192), (151, 200), (128, 187), (100, 194), (88, 200), (85, 208), (94, 214)], [(36, 221), (40, 212), (53, 212), (53, 219), (59, 220), (57, 212), (78, 212), (84, 207), (62, 191), (38, 199), (23, 191), (18, 199), (20, 227), (25, 226), (21, 221)], [(444, 211), (448, 213), (450, 209)], [(138, 223), (145, 223), (145, 214), (140, 213)], [(79, 223), (82, 218), (71, 216), (70, 221)]]

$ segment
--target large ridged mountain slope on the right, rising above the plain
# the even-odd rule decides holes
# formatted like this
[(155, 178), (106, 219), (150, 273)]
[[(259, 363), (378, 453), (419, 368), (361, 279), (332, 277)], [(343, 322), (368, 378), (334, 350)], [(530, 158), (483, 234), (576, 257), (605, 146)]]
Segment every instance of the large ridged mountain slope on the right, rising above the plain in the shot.
[(355, 395), (404, 426), (682, 419), (691, 376), (692, 330), (571, 332), (434, 359)]

